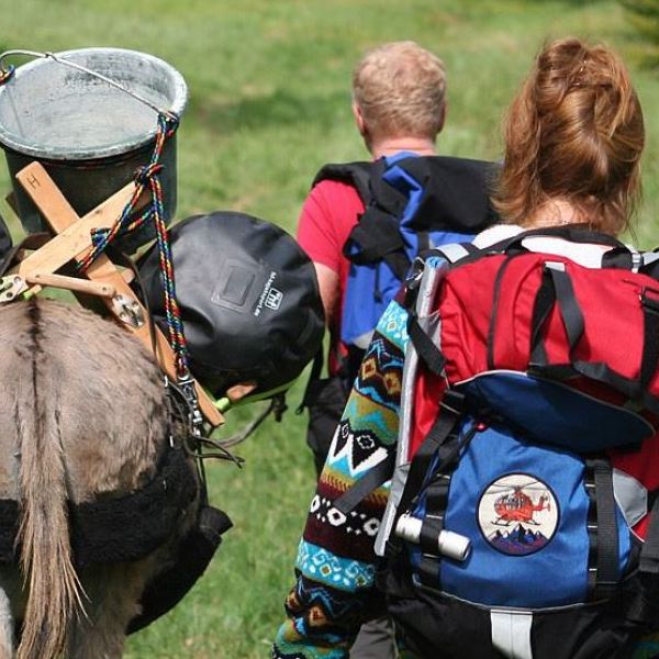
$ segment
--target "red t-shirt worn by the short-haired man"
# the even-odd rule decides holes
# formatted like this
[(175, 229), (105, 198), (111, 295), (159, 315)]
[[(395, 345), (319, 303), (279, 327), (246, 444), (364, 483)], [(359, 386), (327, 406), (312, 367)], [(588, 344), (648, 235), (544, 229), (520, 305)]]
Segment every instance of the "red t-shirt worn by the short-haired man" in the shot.
[(339, 304), (335, 316), (327, 319), (333, 336), (328, 361), (331, 373), (336, 372), (337, 358), (344, 351), (339, 328), (350, 264), (343, 255), (343, 246), (361, 213), (364, 203), (353, 186), (326, 179), (311, 190), (298, 222), (298, 242), (302, 249), (312, 261), (326, 266), (339, 277)]

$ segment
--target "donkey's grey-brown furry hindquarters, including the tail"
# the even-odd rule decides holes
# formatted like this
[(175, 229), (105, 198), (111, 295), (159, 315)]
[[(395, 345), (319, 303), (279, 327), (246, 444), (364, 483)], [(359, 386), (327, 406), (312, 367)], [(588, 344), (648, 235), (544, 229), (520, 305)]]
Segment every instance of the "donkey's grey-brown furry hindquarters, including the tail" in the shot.
[(0, 659), (121, 657), (139, 595), (178, 536), (142, 560), (76, 573), (67, 500), (150, 480), (168, 442), (163, 378), (130, 333), (46, 299), (0, 308), (0, 499), (21, 510), (21, 565), (0, 567)]

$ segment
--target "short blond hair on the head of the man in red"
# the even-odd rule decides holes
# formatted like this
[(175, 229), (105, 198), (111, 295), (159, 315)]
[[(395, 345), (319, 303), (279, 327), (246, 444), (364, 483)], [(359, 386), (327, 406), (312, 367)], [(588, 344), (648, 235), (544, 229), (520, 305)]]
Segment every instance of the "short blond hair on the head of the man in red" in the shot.
[(369, 51), (353, 74), (353, 99), (368, 132), (378, 137), (435, 139), (445, 94), (444, 63), (412, 41)]

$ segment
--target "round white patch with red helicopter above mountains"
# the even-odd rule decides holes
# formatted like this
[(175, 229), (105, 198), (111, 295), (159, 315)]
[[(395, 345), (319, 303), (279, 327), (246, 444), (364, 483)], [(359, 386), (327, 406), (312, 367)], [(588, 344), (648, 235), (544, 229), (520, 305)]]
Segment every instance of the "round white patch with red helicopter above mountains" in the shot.
[(507, 473), (490, 483), (478, 504), (478, 525), (498, 551), (527, 556), (551, 540), (560, 511), (551, 488), (529, 473)]

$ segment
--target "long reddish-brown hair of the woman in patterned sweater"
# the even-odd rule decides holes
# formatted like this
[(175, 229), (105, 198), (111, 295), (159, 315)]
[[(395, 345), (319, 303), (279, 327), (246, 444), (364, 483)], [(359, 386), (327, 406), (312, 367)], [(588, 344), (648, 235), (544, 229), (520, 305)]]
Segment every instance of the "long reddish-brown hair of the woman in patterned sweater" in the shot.
[(494, 205), (522, 226), (551, 200), (576, 220), (616, 235), (640, 193), (645, 130), (622, 60), (577, 38), (545, 46), (509, 110)]

